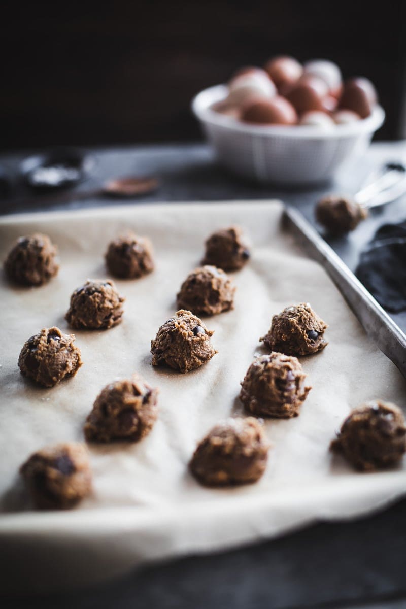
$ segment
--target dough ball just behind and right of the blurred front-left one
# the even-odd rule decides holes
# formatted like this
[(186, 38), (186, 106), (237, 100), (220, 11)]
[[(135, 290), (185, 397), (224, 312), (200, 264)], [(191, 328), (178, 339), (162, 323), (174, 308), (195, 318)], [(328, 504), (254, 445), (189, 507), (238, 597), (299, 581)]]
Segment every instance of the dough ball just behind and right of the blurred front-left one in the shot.
[(138, 375), (106, 385), (86, 419), (83, 429), (86, 440), (141, 440), (156, 421), (157, 398), (158, 389), (152, 389)]

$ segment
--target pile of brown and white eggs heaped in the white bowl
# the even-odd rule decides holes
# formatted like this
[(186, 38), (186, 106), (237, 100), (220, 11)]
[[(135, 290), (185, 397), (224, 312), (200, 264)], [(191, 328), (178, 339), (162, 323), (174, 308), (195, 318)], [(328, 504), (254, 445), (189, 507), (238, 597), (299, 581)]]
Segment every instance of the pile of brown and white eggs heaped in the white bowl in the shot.
[(377, 104), (366, 78), (343, 82), (338, 66), (327, 60), (302, 65), (275, 57), (261, 68), (242, 68), (228, 83), (228, 96), (212, 110), (258, 125), (312, 125), (329, 129), (365, 119)]

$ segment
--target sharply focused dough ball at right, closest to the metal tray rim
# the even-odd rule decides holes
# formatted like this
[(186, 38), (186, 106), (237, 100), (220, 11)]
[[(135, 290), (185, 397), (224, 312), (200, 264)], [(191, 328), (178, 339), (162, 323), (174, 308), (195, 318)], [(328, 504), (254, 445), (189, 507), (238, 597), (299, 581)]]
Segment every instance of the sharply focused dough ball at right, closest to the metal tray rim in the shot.
[(259, 340), (271, 351), (285, 355), (310, 355), (321, 351), (328, 344), (324, 340), (324, 330), (327, 327), (309, 303), (301, 303), (274, 315), (268, 333)]

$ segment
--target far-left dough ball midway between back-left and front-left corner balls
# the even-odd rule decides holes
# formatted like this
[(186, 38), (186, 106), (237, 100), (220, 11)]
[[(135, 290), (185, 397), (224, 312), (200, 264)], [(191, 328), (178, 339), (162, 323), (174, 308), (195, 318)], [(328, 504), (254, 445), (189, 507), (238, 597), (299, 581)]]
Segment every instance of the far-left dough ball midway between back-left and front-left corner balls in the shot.
[(62, 334), (59, 328), (43, 328), (24, 343), (19, 369), (39, 385), (54, 387), (67, 376), (74, 376), (82, 365), (74, 340), (74, 334)]

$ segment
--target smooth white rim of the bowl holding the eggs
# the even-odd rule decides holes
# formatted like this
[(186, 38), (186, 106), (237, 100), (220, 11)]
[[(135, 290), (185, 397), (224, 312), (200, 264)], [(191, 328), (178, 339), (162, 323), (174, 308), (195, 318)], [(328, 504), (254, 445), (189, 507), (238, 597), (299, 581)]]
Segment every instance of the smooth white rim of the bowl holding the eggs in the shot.
[(231, 116), (220, 114), (211, 109), (212, 105), (225, 99), (226, 85), (215, 85), (200, 91), (191, 103), (194, 115), (201, 121), (216, 125), (230, 132), (251, 133), (252, 135), (275, 135), (300, 139), (340, 139), (373, 133), (385, 121), (385, 111), (377, 105), (372, 114), (365, 119), (347, 125), (335, 125), (331, 130), (321, 130), (313, 125), (252, 125), (237, 121)]

